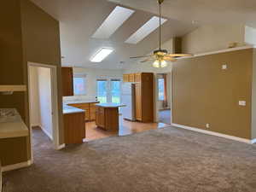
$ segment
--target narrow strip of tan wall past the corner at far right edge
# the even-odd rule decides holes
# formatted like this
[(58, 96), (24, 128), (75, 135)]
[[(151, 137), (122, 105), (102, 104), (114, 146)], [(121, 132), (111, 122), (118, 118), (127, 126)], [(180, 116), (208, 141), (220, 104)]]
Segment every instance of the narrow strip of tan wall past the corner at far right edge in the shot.
[(253, 49), (252, 139), (256, 138), (256, 49)]

